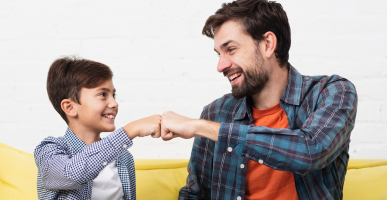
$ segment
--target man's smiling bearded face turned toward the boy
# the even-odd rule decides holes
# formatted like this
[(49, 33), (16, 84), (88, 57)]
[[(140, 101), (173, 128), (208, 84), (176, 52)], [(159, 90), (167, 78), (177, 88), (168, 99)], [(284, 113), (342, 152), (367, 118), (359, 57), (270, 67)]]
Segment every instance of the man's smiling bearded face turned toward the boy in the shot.
[(265, 65), (260, 47), (241, 26), (235, 21), (227, 21), (214, 33), (214, 49), (219, 54), (217, 70), (229, 79), (235, 98), (258, 94), (271, 72)]

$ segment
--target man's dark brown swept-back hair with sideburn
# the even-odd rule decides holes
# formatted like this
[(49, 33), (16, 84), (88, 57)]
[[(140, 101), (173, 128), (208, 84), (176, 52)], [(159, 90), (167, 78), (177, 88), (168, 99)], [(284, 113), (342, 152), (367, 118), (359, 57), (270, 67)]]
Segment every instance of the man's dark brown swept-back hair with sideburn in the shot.
[[(223, 3), (222, 8), (211, 15), (203, 27), (203, 35), (214, 38), (214, 31), (224, 22), (233, 20), (242, 24), (244, 32), (256, 42), (271, 31), (277, 37), (274, 51), (281, 67), (289, 67), (290, 26), (281, 4), (267, 0), (237, 0)], [(256, 43), (258, 44), (258, 43)]]

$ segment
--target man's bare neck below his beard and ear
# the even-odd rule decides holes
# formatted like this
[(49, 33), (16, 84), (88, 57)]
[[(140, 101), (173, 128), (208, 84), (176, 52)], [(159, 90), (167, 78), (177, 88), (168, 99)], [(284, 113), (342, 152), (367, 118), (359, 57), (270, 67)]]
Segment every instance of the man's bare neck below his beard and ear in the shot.
[(285, 91), (288, 82), (287, 67), (273, 67), (273, 71), (269, 77), (269, 82), (258, 94), (252, 96), (254, 107), (258, 110), (264, 110), (277, 105), (280, 102), (281, 96)]

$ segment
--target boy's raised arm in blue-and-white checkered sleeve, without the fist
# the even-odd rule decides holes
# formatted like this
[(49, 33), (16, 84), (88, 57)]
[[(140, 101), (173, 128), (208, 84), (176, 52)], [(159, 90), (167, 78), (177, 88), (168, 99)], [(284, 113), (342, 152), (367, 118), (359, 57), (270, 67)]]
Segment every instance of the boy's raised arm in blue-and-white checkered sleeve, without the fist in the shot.
[(72, 190), (86, 186), (132, 145), (132, 140), (120, 128), (73, 156), (64, 140), (48, 137), (36, 147), (34, 157), (47, 189)]

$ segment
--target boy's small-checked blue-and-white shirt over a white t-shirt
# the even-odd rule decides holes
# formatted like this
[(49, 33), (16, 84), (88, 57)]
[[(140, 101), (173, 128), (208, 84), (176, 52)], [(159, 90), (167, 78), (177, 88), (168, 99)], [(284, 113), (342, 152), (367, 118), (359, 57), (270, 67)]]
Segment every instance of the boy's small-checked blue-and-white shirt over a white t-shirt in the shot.
[[(132, 140), (119, 128), (87, 146), (67, 128), (64, 137), (45, 138), (35, 149), (39, 199), (91, 199), (93, 180), (116, 160), (125, 199), (136, 199)], [(109, 180), (106, 180), (109, 181)]]

